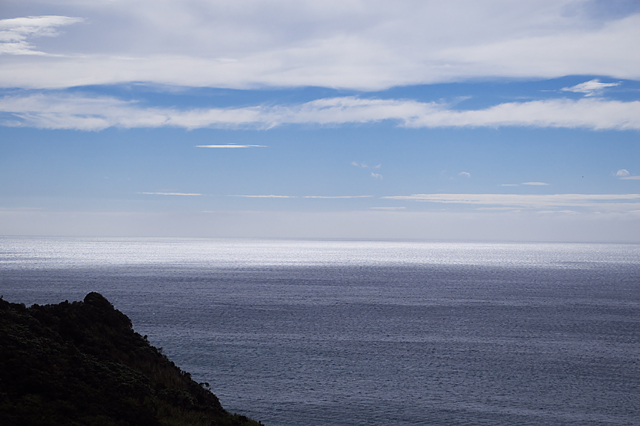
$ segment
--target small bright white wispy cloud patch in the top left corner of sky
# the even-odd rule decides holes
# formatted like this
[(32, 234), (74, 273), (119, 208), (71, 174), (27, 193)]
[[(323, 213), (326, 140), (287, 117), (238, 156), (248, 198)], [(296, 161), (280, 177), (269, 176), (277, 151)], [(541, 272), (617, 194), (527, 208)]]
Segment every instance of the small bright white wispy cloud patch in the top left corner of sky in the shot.
[(34, 50), (29, 38), (55, 37), (57, 27), (82, 22), (82, 18), (67, 16), (28, 16), (0, 20), (0, 55), (46, 55)]

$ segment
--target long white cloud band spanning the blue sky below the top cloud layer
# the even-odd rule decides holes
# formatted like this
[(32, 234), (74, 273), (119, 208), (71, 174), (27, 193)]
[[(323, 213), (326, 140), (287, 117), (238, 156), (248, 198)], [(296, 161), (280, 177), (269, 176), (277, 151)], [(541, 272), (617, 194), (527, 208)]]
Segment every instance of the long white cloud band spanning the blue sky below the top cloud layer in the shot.
[[(294, 105), (180, 110), (145, 108), (112, 97), (32, 94), (0, 99), (0, 124), (43, 129), (102, 130), (108, 127), (271, 128), (286, 124), (344, 125), (398, 122), (410, 128), (555, 127), (640, 130), (640, 101), (588, 98), (508, 102), (480, 110), (413, 100), (341, 97)], [(352, 164), (366, 167), (365, 164)]]

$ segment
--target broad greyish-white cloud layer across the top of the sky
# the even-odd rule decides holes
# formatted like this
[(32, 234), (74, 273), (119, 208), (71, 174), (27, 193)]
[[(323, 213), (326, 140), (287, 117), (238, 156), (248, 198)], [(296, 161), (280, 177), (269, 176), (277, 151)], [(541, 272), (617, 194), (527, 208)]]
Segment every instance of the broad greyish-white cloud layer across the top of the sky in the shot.
[[(62, 88), (137, 81), (378, 90), (486, 77), (639, 78), (635, 51), (640, 14), (598, 16), (585, 13), (589, 4), (60, 1), (58, 13), (83, 16), (87, 24), (74, 27), (73, 37), (37, 46), (41, 52), (64, 56), (3, 61), (0, 86)], [(41, 8), (40, 2), (22, 0), (20, 10), (35, 14)], [(32, 33), (25, 34), (21, 37)], [(27, 44), (16, 50), (36, 49)]]

